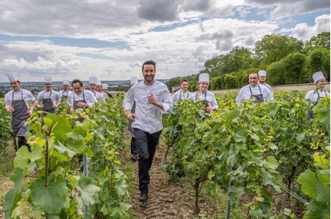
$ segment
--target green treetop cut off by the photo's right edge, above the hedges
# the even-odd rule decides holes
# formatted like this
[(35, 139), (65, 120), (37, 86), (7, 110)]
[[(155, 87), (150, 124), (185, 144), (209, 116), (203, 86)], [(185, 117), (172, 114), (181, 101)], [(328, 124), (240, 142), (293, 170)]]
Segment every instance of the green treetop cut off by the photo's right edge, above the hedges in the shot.
[(314, 49), (325, 48), (330, 50), (330, 32), (318, 33), (305, 42), (305, 53), (309, 54)]

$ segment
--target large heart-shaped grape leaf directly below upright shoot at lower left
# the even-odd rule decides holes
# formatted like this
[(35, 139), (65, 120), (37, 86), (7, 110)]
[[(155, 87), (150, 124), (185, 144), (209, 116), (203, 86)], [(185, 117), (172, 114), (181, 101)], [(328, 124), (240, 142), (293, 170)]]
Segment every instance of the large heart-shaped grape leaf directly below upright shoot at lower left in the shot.
[(42, 206), (48, 214), (57, 214), (62, 208), (69, 207), (70, 195), (63, 179), (45, 187), (41, 179), (36, 179), (30, 186), (32, 203)]

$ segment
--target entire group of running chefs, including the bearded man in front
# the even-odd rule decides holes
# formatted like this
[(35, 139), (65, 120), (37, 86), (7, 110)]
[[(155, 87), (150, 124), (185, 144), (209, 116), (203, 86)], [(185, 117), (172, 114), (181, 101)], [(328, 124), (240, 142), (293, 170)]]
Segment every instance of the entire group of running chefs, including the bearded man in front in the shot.
[[(199, 89), (193, 94), (187, 90), (189, 81), (183, 79), (180, 83), (181, 89), (171, 95), (164, 83), (154, 79), (155, 73), (156, 63), (152, 60), (144, 62), (142, 65), (144, 80), (138, 82), (136, 77), (132, 77), (131, 88), (123, 100), (123, 112), (129, 121), (127, 134), (132, 136), (131, 159), (138, 160), (140, 202), (148, 201), (149, 170), (163, 130), (162, 114), (171, 112), (174, 102), (190, 98), (200, 100), (206, 106), (206, 112), (218, 110), (215, 95), (208, 90), (208, 74), (199, 75)], [(107, 84), (101, 84), (96, 77), (89, 78), (90, 90), (83, 89), (83, 83), (76, 79), (71, 82), (73, 91), (68, 90), (69, 81), (64, 80), (63, 90), (59, 92), (52, 89), (52, 79), (45, 77), (45, 89), (38, 93), (35, 101), (30, 91), (20, 88), (17, 73), (10, 73), (7, 76), (13, 90), (5, 95), (6, 110), (12, 113), (12, 128), (19, 138), (19, 147), (27, 145), (25, 134), (29, 130), (29, 124), (24, 123), (32, 114), (35, 105), (42, 111), (54, 113), (61, 99), (64, 98), (67, 99), (72, 112), (77, 108), (92, 107), (93, 103), (109, 98), (106, 93)], [(322, 72), (316, 72), (312, 77), (319, 89), (307, 92), (305, 98), (310, 99), (311, 104), (314, 105), (319, 98), (330, 96), (330, 93), (324, 89), (326, 80)], [(240, 89), (236, 100), (241, 103), (252, 97), (255, 97), (256, 103), (274, 99), (271, 86), (266, 83), (264, 70), (249, 75), (249, 84)]]

